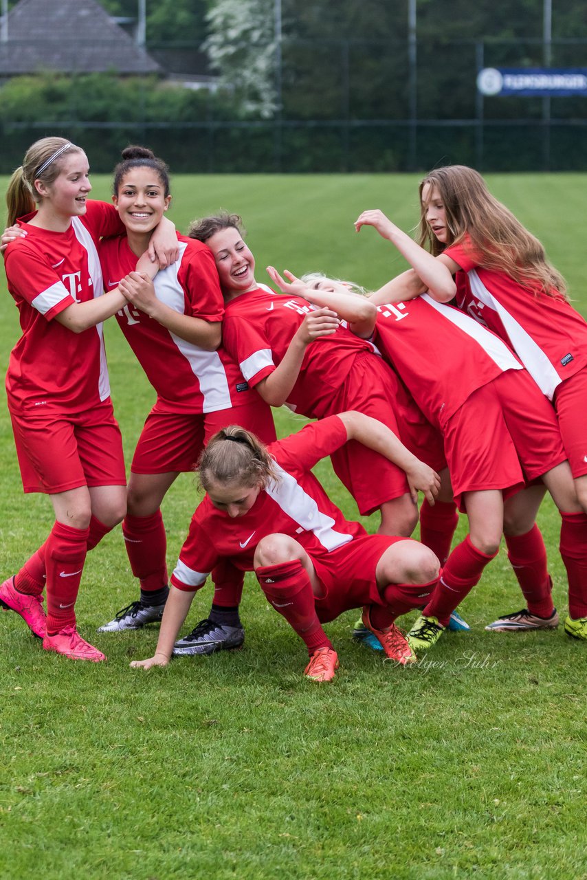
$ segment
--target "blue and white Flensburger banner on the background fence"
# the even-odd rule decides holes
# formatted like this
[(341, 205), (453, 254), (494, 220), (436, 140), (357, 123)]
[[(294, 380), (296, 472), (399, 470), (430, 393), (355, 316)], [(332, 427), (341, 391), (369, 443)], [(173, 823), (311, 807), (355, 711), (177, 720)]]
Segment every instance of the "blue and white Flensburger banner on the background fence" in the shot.
[(486, 67), (477, 76), (477, 88), (487, 97), (587, 95), (587, 68)]

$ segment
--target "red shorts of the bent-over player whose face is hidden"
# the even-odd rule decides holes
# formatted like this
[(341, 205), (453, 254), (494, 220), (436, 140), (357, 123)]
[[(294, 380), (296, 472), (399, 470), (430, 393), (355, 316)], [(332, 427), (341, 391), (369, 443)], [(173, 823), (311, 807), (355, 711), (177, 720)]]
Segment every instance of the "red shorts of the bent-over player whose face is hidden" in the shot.
[(528, 373), (507, 370), (473, 392), (444, 427), (459, 508), (464, 492), (512, 495), (567, 456), (553, 407)]

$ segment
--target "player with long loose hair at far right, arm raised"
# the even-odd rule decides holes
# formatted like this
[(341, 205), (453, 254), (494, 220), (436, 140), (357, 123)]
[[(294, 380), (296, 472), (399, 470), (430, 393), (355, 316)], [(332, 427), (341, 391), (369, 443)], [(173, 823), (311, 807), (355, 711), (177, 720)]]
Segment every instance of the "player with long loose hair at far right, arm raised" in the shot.
[[(576, 369), (573, 353), (580, 364), (584, 363), (583, 352), (573, 346), (577, 346), (581, 338), (587, 338), (584, 335), (587, 325), (562, 296), (560, 276), (547, 263), (539, 242), (521, 224), (517, 224), (503, 205), (492, 200), (477, 172), (462, 166), (437, 169), (422, 182), (421, 198), (422, 241), (425, 243), (429, 240), (437, 256), (416, 244), (378, 210), (363, 212), (356, 222), (356, 228), (374, 226), (383, 238), (393, 242), (413, 267), (413, 271), (408, 271), (386, 286), (385, 297), (391, 303), (406, 301), (420, 295), (423, 290), (428, 290), (429, 296), (435, 301), (449, 302), (455, 292), (462, 290), (463, 284), (470, 285), (471, 290), (478, 290), (481, 297), (483, 285), (481, 282), (478, 284), (478, 279), (482, 275), (485, 279), (483, 284), (486, 285), (483, 297), (488, 303), (493, 303), (495, 316), (501, 316), (499, 320), (495, 316), (489, 319), (492, 310), (485, 307), (481, 297), (477, 303), (483, 306), (481, 311), (486, 316), (483, 317), (483, 323), (499, 332), (503, 319), (500, 335), (512, 343), (532, 378), (536, 381), (542, 378), (541, 385), (538, 384), (547, 396), (550, 383), (562, 441), (571, 473), (575, 477), (575, 493), (571, 495), (565, 490), (567, 500), (559, 498), (557, 502), (561, 511), (561, 557), (569, 578), (569, 616), (565, 620), (565, 631), (571, 636), (585, 639), (587, 515), (583, 509), (582, 487), (585, 480), (581, 472), (584, 476), (587, 466), (584, 461), (579, 461), (580, 432), (576, 429), (583, 419), (583, 411), (582, 407), (575, 407), (576, 413), (572, 416), (568, 408), (561, 406), (561, 400), (565, 400), (565, 384), (572, 380), (571, 385), (575, 388), (585, 375), (583, 368), (576, 373), (572, 371)], [(479, 273), (470, 268), (469, 277), (465, 278), (458, 260), (453, 260), (451, 253), (457, 254), (467, 267), (469, 263), (466, 260), (473, 260), (479, 267)], [(453, 281), (453, 274), (457, 276), (457, 283)], [(495, 294), (489, 296), (489, 287), (495, 290)], [(510, 291), (508, 303), (511, 314), (501, 304), (502, 297), (506, 296), (505, 290)], [(465, 304), (462, 297), (460, 301)], [(514, 310), (519, 322), (513, 318)], [(475, 309), (467, 308), (467, 311), (474, 317)], [(479, 317), (480, 309), (477, 312)], [(531, 331), (543, 348), (532, 339)], [(565, 365), (569, 366), (569, 378), (563, 379), (567, 375), (564, 373)], [(556, 370), (559, 372), (556, 373)], [(541, 489), (531, 488), (530, 492), (533, 493), (531, 503), (537, 510)], [(526, 535), (519, 535), (515, 544), (509, 547), (512, 562), (514, 555), (526, 560), (537, 558), (541, 539), (535, 530), (531, 530)], [(533, 629), (541, 626), (536, 617), (525, 608), (503, 615), (488, 628), (498, 632)]]

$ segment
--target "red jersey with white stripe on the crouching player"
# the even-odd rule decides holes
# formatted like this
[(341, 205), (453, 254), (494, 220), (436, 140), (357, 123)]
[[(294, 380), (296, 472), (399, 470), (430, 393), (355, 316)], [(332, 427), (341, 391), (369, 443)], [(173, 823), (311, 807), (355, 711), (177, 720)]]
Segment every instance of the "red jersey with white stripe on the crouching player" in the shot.
[(306, 425), (284, 440), (269, 444), (277, 477), (261, 489), (251, 510), (231, 518), (216, 510), (208, 495), (192, 517), (172, 583), (198, 590), (217, 562), (230, 558), (241, 571), (253, 571), (260, 539), (280, 532), (290, 535), (311, 556), (324, 556), (366, 532), (346, 520), (331, 502), (311, 468), (347, 442), (347, 430), (336, 415)]

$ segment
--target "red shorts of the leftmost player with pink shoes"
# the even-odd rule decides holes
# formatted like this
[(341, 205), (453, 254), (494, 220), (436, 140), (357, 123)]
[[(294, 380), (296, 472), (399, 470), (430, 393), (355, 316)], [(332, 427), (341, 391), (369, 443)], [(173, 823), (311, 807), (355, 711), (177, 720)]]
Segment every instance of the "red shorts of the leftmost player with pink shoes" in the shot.
[(121, 431), (110, 400), (73, 415), (11, 413), (25, 492), (57, 495), (81, 486), (126, 486)]

